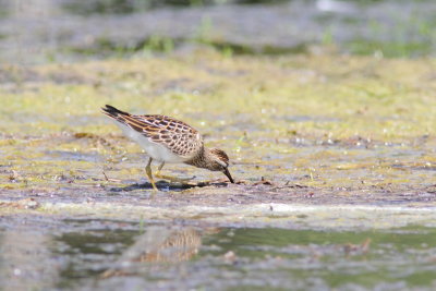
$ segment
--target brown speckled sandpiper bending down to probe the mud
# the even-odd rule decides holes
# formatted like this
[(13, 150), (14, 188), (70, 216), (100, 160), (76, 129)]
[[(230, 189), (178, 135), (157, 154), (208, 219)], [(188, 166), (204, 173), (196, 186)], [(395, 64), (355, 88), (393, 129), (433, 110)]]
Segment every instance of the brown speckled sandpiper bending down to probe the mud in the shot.
[(202, 135), (183, 121), (166, 116), (134, 116), (121, 111), (110, 105), (101, 108), (104, 113), (118, 121), (126, 136), (138, 143), (148, 154), (149, 159), (145, 171), (155, 190), (156, 183), (152, 175), (152, 161), (160, 162), (157, 178), (170, 181), (182, 181), (160, 174), (166, 162), (183, 162), (210, 171), (223, 172), (234, 183), (229, 172), (229, 157), (218, 148), (204, 146)]

